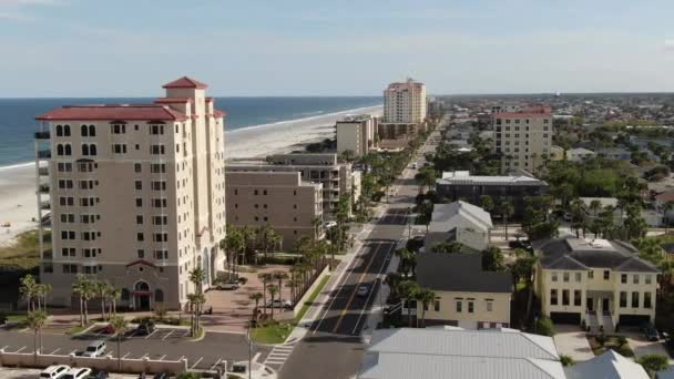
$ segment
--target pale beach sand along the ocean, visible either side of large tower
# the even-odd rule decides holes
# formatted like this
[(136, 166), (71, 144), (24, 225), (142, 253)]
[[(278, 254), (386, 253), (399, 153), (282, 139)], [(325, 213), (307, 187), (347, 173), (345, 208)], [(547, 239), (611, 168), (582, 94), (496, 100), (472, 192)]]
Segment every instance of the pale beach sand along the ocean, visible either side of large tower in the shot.
[[(369, 106), (227, 131), (225, 156), (245, 158), (290, 152), (307, 143), (335, 137), (335, 121), (347, 114), (380, 115), (381, 112), (380, 105)], [(0, 246), (10, 244), (18, 234), (35, 228), (33, 218), (38, 218), (34, 164), (0, 167)], [(6, 223), (10, 227), (2, 226)]]

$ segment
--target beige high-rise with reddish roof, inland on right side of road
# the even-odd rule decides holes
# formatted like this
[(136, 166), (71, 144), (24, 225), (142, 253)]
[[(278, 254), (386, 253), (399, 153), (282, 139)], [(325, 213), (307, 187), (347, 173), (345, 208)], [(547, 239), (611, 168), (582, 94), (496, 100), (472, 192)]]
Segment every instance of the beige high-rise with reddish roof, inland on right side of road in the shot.
[(501, 153), (501, 172), (524, 170), (537, 174), (552, 148), (552, 109), (527, 106), (491, 115), (494, 150)]

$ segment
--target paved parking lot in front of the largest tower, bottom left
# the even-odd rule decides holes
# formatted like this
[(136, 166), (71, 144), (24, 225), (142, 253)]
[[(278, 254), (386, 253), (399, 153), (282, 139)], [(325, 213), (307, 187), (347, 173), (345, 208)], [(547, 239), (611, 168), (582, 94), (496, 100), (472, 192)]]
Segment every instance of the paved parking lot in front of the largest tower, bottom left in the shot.
[[(47, 355), (78, 355), (89, 344), (105, 340), (103, 356), (118, 357), (116, 336), (105, 334), (103, 327), (94, 327), (78, 336), (44, 334), (42, 352)], [(33, 352), (33, 334), (0, 330), (0, 348), (7, 352)], [(262, 362), (269, 348), (253, 346), (253, 356)], [(244, 335), (207, 332), (202, 340), (193, 341), (190, 329), (184, 327), (156, 328), (149, 335), (139, 335), (135, 329), (125, 334), (120, 344), (120, 356), (129, 359), (153, 360), (187, 359), (191, 369), (213, 369), (224, 361), (248, 359), (248, 341)]]

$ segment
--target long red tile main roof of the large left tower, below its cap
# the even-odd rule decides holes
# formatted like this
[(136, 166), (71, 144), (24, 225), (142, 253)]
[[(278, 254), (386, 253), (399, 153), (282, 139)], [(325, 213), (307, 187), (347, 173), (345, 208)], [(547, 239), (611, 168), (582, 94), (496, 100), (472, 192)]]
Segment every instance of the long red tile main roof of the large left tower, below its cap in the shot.
[(187, 116), (159, 104), (68, 105), (35, 117), (42, 121), (185, 121)]

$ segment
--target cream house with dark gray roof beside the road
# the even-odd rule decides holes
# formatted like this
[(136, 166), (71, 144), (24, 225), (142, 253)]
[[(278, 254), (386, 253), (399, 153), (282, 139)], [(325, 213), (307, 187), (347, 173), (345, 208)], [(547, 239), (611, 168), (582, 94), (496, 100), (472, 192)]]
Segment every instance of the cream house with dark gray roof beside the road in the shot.
[(512, 275), (486, 272), (477, 253), (420, 253), (417, 283), (436, 294), (433, 304), (417, 303), (421, 325), (449, 325), (466, 329), (510, 326)]

